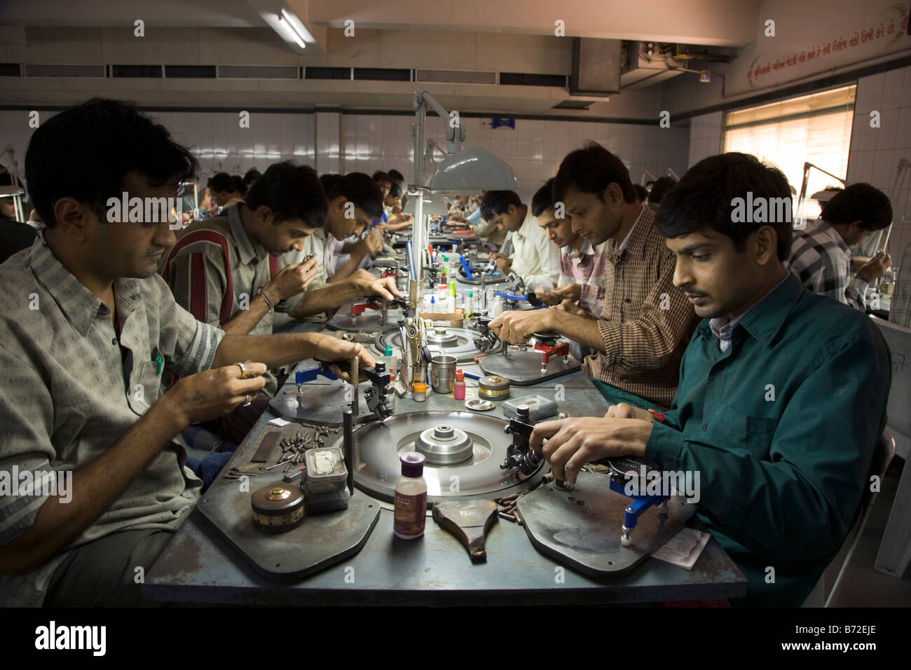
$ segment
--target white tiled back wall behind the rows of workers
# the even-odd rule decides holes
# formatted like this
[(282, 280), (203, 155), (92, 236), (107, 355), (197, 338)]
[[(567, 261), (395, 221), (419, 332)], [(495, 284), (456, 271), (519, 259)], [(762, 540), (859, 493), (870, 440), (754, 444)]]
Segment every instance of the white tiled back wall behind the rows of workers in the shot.
[[(44, 113), (42, 120), (49, 118)], [(319, 172), (368, 174), (401, 171), (412, 180), (411, 116), (316, 112), (315, 114), (252, 113), (250, 128), (240, 128), (229, 112), (153, 112), (174, 139), (200, 160), (201, 178), (216, 171), (242, 174), (260, 171), (279, 160), (312, 165)], [(31, 130), (26, 112), (0, 111), (0, 142), (13, 142), (20, 171)], [(516, 119), (516, 128), (490, 128), (489, 119), (463, 118), (466, 146), (479, 146), (506, 160), (516, 172), (519, 195), (530, 201), (552, 177), (560, 160), (586, 139), (594, 139), (619, 155), (634, 183), (642, 170), (663, 175), (670, 167), (682, 175), (691, 151), (690, 129), (656, 125)], [(443, 120), (428, 117), (425, 138), (445, 147)], [(6, 162), (6, 160), (4, 160)]]

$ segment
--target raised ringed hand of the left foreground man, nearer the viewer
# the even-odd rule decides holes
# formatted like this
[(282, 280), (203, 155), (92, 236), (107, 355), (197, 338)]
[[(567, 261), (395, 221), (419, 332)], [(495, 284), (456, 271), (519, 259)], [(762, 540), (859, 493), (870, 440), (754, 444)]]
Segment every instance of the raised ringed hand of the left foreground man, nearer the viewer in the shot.
[(261, 376), (266, 371), (265, 363), (243, 365), (247, 379), (241, 379), (241, 367), (233, 364), (182, 376), (152, 408), (159, 407), (163, 401), (160, 407), (180, 417), (186, 426), (224, 417), (266, 386)]

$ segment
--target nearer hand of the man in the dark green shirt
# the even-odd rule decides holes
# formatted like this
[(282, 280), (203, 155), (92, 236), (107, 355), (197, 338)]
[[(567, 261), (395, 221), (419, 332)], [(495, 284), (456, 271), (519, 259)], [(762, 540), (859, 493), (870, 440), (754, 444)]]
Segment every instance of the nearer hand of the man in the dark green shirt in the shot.
[(555, 478), (574, 484), (586, 463), (618, 456), (644, 457), (651, 426), (650, 421), (638, 418), (569, 417), (537, 424), (529, 446), (548, 459)]

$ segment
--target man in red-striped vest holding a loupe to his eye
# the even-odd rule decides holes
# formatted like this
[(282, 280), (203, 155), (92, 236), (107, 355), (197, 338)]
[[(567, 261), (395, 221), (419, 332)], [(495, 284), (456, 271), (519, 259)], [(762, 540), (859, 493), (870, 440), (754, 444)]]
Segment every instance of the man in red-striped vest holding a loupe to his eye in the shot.
[[(343, 189), (358, 174), (346, 175), (335, 188)], [(222, 216), (193, 222), (183, 231), (162, 271), (174, 299), (198, 321), (220, 327), (229, 335), (269, 335), (273, 312), (281, 309), (282, 301), (299, 298), (300, 303), (326, 309), (363, 294), (392, 291), (392, 280), (361, 275), (349, 276), (348, 281), (340, 277), (337, 283), (330, 279), (331, 287), (323, 283), (314, 287), (324, 272), (322, 255), (279, 269), (281, 254), (290, 248), (302, 252), (307, 240), (322, 228), (343, 235), (369, 220), (362, 205), (380, 209), (379, 189), (367, 175), (360, 177), (375, 196), (366, 199), (369, 204), (352, 198), (355, 206), (346, 208), (345, 195), (331, 191), (336, 197), (327, 213), (312, 168), (292, 162), (271, 165), (253, 184), (246, 202), (230, 207)], [(346, 209), (355, 216), (346, 218)], [(274, 372), (263, 376), (266, 386), (251, 405), (238, 407), (206, 428), (240, 444), (283, 381)]]

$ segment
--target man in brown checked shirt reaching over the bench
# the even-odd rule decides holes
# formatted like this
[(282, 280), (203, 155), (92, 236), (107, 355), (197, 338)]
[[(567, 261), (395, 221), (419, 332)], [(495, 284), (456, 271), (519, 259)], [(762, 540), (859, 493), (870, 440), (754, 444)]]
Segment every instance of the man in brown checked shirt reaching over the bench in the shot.
[(673, 285), (674, 255), (654, 229), (654, 212), (636, 201), (626, 166), (595, 142), (563, 159), (553, 195), (574, 232), (595, 246), (608, 242), (601, 314), (592, 318), (565, 301), (553, 309), (505, 312), (491, 328), (510, 343), (557, 331), (595, 352), (586, 370), (609, 402), (670, 407), (698, 319)]

